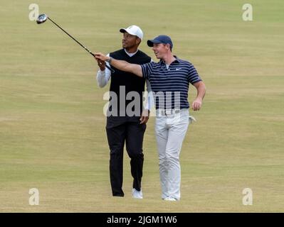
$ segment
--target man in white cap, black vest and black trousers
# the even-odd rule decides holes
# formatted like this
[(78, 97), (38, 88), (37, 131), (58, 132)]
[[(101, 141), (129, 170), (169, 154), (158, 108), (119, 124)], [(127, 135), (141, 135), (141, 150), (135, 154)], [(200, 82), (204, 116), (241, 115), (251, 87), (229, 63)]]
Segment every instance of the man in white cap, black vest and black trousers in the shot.
[[(120, 32), (123, 33), (122, 49), (111, 52), (111, 57), (139, 65), (151, 61), (151, 57), (138, 50), (138, 46), (143, 38), (142, 30), (138, 26), (121, 28)], [(115, 72), (111, 73), (110, 70), (105, 68), (105, 62), (100, 62), (100, 60), (98, 60), (98, 65), (100, 67), (97, 75), (99, 87), (105, 87), (108, 80), (111, 78), (110, 92), (115, 92), (117, 95), (117, 105), (109, 106), (108, 115), (110, 113), (117, 114), (107, 115), (106, 126), (107, 140), (110, 146), (110, 183), (112, 195), (124, 196), (124, 192), (122, 191), (123, 148), (124, 145), (126, 145), (127, 153), (131, 159), (130, 165), (133, 177), (132, 196), (136, 199), (142, 199), (141, 180), (144, 161), (142, 143), (150, 109), (149, 104), (144, 110), (142, 106), (142, 93), (144, 92), (145, 79), (135, 77), (135, 75), (130, 72), (123, 72), (114, 67), (112, 68)], [(150, 92), (151, 88), (149, 82), (146, 82), (147, 91)], [(127, 115), (129, 114), (127, 113), (127, 105), (133, 100), (125, 99), (128, 92), (137, 92), (139, 94), (140, 100), (136, 101), (140, 101), (140, 109), (134, 110), (134, 112), (138, 111), (136, 116)], [(125, 101), (125, 105), (120, 106), (120, 96), (123, 96), (122, 98)], [(117, 106), (117, 109), (115, 106)]]

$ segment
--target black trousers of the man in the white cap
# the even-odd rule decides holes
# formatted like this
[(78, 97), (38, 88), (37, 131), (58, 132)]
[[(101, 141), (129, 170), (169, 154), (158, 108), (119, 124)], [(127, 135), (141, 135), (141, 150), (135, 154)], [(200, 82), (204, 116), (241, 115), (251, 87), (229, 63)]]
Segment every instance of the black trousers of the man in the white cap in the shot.
[(113, 196), (124, 196), (123, 150), (126, 145), (130, 157), (132, 187), (140, 191), (144, 155), (142, 150), (146, 124), (140, 124), (140, 117), (110, 116), (107, 117), (107, 141), (110, 146), (110, 184)]

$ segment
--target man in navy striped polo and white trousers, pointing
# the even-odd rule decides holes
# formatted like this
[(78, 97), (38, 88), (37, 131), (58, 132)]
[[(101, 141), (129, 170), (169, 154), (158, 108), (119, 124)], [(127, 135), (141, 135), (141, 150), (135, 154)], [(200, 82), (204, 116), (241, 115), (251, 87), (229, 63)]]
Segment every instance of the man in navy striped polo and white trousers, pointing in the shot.
[(191, 104), (194, 111), (201, 109), (205, 95), (202, 82), (194, 65), (172, 54), (173, 43), (167, 35), (148, 40), (159, 62), (135, 65), (95, 53), (97, 60), (109, 62), (119, 70), (132, 72), (148, 79), (155, 99), (156, 137), (159, 152), (159, 175), (162, 199), (180, 199), (181, 170), (179, 153), (189, 126), (189, 83), (196, 87), (197, 95)]

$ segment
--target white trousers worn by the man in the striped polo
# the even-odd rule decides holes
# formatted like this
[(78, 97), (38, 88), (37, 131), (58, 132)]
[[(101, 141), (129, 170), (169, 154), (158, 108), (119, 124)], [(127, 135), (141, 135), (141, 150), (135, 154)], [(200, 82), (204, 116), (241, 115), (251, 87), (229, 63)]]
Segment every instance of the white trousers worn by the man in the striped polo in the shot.
[(189, 126), (189, 109), (179, 114), (156, 114), (156, 138), (159, 153), (159, 177), (162, 187), (162, 199), (170, 196), (180, 199), (181, 168), (179, 153)]

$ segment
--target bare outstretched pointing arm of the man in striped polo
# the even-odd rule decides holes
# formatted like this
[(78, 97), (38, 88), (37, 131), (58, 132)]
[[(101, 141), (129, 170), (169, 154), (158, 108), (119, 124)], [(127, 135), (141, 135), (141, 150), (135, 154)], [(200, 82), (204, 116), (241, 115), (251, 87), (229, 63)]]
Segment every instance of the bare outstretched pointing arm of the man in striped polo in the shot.
[(130, 64), (122, 60), (115, 60), (112, 57), (107, 57), (103, 55), (101, 52), (95, 52), (95, 59), (101, 60), (104, 62), (109, 62), (110, 65), (116, 67), (118, 70), (122, 70), (125, 72), (132, 72), (133, 74), (136, 74), (138, 77), (143, 76), (142, 68), (140, 65)]

